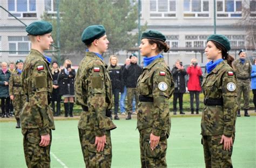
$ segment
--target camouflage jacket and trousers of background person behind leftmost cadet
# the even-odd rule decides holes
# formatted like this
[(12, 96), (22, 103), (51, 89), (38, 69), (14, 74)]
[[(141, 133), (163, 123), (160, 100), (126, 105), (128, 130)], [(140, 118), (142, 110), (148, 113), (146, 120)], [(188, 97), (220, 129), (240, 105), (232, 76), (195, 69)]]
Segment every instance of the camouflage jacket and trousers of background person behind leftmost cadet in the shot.
[(14, 95), (14, 110), (15, 110), (15, 118), (19, 118), (19, 114), (21, 113), (22, 107), (26, 102), (26, 96), (21, 87), (21, 75), (19, 75), (18, 71), (15, 70), (12, 72), (9, 80), (9, 94)]

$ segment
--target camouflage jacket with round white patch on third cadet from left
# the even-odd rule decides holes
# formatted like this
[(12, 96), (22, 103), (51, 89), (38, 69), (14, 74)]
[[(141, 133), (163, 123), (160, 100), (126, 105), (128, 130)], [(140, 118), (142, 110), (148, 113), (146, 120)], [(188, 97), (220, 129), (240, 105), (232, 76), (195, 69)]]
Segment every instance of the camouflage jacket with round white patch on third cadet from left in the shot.
[(143, 69), (137, 88), (140, 95), (153, 99), (153, 102), (138, 103), (137, 128), (139, 130), (152, 128), (152, 134), (156, 136), (166, 134), (169, 136), (171, 129), (169, 99), (174, 90), (174, 82), (164, 58), (154, 60)]

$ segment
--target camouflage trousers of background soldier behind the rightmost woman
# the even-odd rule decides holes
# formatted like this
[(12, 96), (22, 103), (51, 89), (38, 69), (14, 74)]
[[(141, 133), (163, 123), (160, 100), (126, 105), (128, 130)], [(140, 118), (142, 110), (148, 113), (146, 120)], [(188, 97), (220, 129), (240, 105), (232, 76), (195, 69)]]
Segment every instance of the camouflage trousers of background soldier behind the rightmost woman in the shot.
[(237, 94), (237, 100), (238, 100), (238, 106), (240, 108), (240, 102), (241, 102), (241, 96), (244, 97), (244, 109), (249, 109), (249, 100), (250, 100), (250, 81), (240, 81), (237, 80), (237, 87), (238, 87), (238, 94)]

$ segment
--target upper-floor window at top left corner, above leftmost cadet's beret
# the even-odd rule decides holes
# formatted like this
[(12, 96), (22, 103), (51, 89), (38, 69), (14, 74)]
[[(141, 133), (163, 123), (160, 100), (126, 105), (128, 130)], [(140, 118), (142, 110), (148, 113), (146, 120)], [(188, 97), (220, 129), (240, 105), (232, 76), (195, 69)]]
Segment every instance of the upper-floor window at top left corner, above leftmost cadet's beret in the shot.
[(16, 17), (37, 17), (36, 0), (8, 0), (8, 10)]

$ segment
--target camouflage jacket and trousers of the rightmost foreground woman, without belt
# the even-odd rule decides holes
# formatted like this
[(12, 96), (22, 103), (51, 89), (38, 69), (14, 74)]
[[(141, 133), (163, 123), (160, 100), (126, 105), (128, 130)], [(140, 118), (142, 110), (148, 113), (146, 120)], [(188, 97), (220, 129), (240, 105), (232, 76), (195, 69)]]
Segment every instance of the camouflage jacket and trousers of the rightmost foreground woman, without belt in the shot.
[[(209, 74), (205, 74), (203, 93), (208, 99), (223, 99), (223, 106), (205, 105), (203, 109), (201, 135), (204, 137), (206, 167), (231, 167), (232, 164), (221, 166), (231, 163), (232, 151), (225, 153), (226, 151), (222, 150), (223, 144), (219, 144), (222, 135), (234, 135), (238, 111), (237, 82), (235, 73), (227, 61), (220, 62)], [(222, 159), (219, 158), (221, 152), (225, 153)]]

